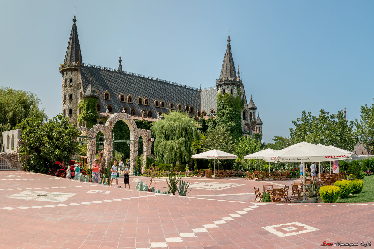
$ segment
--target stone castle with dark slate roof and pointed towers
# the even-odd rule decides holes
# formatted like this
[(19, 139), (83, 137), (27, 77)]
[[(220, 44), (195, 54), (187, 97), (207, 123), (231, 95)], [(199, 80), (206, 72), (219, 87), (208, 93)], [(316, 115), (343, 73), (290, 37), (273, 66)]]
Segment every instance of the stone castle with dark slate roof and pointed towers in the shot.
[(98, 124), (113, 113), (124, 111), (135, 120), (156, 121), (159, 113), (169, 110), (188, 112), (199, 119), (215, 116), (217, 111), (218, 92), (240, 96), (242, 106), (242, 130), (244, 136), (254, 138), (254, 133), (262, 137), (262, 121), (256, 119), (256, 110), (252, 96), (249, 104), (244, 86), (236, 72), (230, 45), (230, 34), (222, 64), (221, 74), (214, 87), (198, 89), (166, 80), (129, 73), (122, 68), (121, 55), (118, 69), (85, 64), (82, 59), (78, 31), (74, 14), (73, 27), (63, 64), (59, 71), (62, 74), (62, 114), (76, 126), (79, 110), (78, 104), (85, 95), (98, 98), (96, 111)]

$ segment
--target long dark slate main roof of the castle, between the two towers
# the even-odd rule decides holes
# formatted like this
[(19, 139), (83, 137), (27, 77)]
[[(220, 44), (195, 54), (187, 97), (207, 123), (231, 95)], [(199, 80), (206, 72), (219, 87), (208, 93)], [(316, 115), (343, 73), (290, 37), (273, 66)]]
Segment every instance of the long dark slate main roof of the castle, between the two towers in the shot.
[[(111, 104), (113, 113), (122, 111), (122, 107), (126, 106), (128, 111), (131, 107), (135, 108), (135, 114), (140, 115), (141, 110), (151, 110), (153, 117), (156, 117), (159, 111), (168, 111), (169, 102), (173, 102), (174, 110), (177, 110), (178, 103), (181, 103), (182, 110), (186, 105), (193, 106), (194, 113), (200, 109), (200, 91), (190, 89), (183, 86), (178, 86), (159, 80), (148, 79), (141, 76), (135, 76), (127, 73), (118, 73), (116, 71), (105, 70), (101, 68), (94, 68), (80, 65), (80, 74), (82, 77), (83, 90), (89, 87), (90, 77), (92, 75), (92, 83), (98, 91), (99, 104), (101, 110), (105, 112), (108, 104)], [(110, 100), (104, 100), (104, 92), (108, 91)], [(125, 97), (128, 94), (132, 95), (132, 104), (120, 102), (119, 96), (123, 93)], [(149, 99), (148, 105), (139, 105), (137, 98), (141, 96), (143, 99)], [(165, 102), (165, 107), (160, 108), (154, 106), (154, 100)], [(146, 116), (147, 116), (147, 111)]]

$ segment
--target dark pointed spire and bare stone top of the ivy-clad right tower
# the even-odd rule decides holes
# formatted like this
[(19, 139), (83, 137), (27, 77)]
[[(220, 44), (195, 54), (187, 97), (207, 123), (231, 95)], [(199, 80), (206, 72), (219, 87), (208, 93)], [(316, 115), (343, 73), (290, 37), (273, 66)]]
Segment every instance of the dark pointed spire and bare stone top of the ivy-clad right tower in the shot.
[(227, 39), (226, 53), (223, 58), (223, 64), (221, 69), (221, 75), (218, 80), (216, 80), (216, 86), (218, 92), (231, 93), (234, 97), (240, 94), (240, 76), (236, 75), (234, 59), (231, 52), (230, 45), (230, 31), (229, 38)]

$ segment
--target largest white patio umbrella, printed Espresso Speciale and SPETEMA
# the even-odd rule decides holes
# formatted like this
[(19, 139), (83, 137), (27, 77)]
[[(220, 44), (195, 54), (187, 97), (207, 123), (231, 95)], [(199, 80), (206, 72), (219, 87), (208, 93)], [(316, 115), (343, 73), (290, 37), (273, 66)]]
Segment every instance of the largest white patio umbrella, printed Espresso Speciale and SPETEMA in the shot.
[[(321, 145), (301, 142), (291, 145), (273, 154), (264, 157), (266, 162), (328, 162), (331, 160), (349, 160), (351, 154), (324, 147)], [(303, 183), (305, 184), (305, 174), (303, 174)], [(303, 187), (305, 190), (305, 186)], [(305, 201), (305, 196), (303, 198)]]

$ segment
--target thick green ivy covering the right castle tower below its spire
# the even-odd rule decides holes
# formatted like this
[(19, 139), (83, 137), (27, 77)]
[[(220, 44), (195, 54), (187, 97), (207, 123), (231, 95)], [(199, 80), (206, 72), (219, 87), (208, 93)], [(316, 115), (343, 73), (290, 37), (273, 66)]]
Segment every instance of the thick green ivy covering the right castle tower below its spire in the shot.
[(243, 135), (240, 96), (222, 92), (217, 97), (217, 126), (224, 126), (233, 141)]

